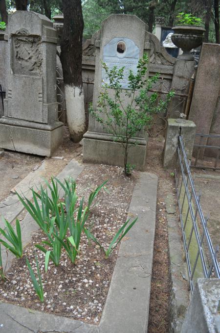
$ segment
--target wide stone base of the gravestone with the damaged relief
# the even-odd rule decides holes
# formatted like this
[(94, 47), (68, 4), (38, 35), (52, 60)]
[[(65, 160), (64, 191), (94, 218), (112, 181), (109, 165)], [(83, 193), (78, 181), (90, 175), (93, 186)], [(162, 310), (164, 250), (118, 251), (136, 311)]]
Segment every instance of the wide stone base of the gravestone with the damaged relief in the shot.
[(64, 124), (32, 123), (14, 118), (0, 119), (0, 147), (16, 152), (51, 156), (63, 141)]

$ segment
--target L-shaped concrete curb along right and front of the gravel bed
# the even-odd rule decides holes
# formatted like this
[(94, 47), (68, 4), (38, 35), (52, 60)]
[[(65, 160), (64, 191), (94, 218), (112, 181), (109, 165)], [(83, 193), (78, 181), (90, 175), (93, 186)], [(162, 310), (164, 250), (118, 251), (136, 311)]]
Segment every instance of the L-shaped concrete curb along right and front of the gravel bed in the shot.
[(157, 176), (141, 173), (128, 214), (132, 219), (138, 215), (138, 221), (120, 245), (98, 326), (1, 303), (0, 333), (146, 333), (154, 253), (156, 193)]

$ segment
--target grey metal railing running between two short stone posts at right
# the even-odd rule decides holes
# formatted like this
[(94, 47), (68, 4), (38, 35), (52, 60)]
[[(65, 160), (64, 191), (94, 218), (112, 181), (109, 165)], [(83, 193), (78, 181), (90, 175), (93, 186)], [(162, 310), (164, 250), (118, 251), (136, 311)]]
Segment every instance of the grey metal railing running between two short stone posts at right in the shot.
[(179, 205), (182, 237), (187, 262), (190, 290), (198, 278), (219, 278), (217, 260), (219, 247), (214, 250), (204, 218), (200, 196), (197, 195), (190, 172), (182, 136), (179, 135), (176, 160), (176, 193)]

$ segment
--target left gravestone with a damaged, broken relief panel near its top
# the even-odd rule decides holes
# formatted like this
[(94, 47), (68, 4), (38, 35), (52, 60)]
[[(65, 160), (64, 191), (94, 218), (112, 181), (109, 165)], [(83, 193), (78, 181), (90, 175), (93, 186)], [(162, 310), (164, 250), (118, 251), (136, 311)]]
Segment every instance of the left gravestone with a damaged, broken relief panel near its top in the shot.
[(0, 147), (51, 156), (63, 138), (56, 100), (57, 33), (44, 15), (16, 11), (6, 33), (6, 98)]

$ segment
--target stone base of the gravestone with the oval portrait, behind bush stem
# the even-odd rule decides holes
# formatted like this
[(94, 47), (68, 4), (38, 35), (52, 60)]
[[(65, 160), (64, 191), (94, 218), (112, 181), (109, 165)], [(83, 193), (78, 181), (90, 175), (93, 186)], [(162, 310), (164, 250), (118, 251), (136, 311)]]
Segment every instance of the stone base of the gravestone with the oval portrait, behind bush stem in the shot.
[[(138, 145), (130, 145), (128, 163), (135, 169), (143, 170), (146, 162), (148, 134), (145, 138), (137, 138)], [(83, 161), (124, 166), (125, 151), (122, 145), (112, 141), (112, 136), (95, 132), (87, 132), (83, 139)]]

